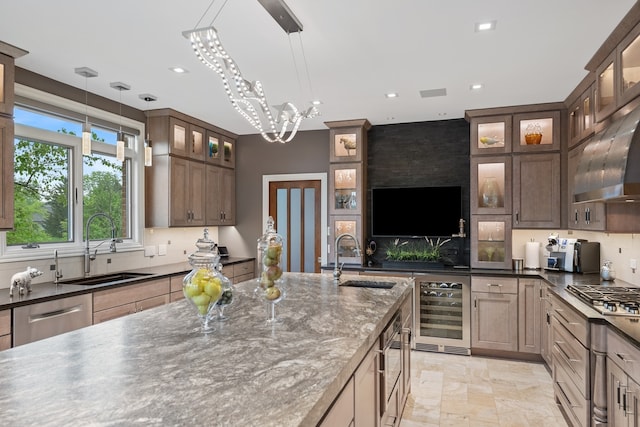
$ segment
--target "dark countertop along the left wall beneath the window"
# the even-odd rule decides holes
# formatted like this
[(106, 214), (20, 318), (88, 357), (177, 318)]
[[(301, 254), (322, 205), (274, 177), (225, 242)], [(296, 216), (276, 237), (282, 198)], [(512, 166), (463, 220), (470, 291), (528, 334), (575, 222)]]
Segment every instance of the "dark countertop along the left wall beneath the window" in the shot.
[[(241, 258), (241, 257), (229, 257), (221, 258), (220, 263), (224, 265), (238, 264), (245, 261), (251, 261), (255, 258)], [(31, 285), (32, 291), (29, 294), (18, 295), (17, 291), (14, 291), (13, 297), (9, 296), (9, 289), (0, 289), (0, 310), (6, 310), (13, 307), (19, 307), (21, 305), (34, 304), (43, 301), (49, 301), (52, 299), (81, 295), (104, 288), (113, 288), (118, 286), (127, 286), (133, 283), (140, 283), (147, 280), (155, 280), (163, 277), (174, 276), (176, 274), (187, 274), (193, 267), (188, 262), (180, 262), (174, 264), (158, 265), (153, 267), (145, 267), (138, 269), (129, 269), (127, 272), (144, 273), (147, 276), (138, 277), (135, 279), (122, 280), (117, 283), (109, 285), (64, 285), (58, 284), (56, 286), (53, 282), (33, 284)], [(118, 272), (114, 271), (113, 274)], [(69, 278), (70, 279), (70, 278)], [(62, 279), (69, 280), (68, 278)]]

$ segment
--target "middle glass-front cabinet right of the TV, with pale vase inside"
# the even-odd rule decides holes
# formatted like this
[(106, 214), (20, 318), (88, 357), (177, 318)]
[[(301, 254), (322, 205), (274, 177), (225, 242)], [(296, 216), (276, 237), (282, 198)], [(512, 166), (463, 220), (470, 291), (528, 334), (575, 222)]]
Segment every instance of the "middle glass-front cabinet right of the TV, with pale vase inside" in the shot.
[(471, 168), (471, 213), (511, 213), (511, 157), (473, 157)]

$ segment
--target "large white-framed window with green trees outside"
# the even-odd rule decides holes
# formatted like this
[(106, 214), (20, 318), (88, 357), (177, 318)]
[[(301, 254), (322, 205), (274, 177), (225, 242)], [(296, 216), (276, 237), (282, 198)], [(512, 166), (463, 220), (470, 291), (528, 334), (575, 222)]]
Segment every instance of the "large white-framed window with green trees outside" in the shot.
[[(16, 93), (18, 91), (16, 90)], [(143, 150), (136, 134), (144, 124), (128, 120), (125, 161), (116, 159), (116, 134), (123, 119), (94, 110), (92, 154), (82, 156), (80, 134), (86, 108), (52, 95), (30, 102), (17, 97), (14, 108), (15, 227), (5, 232), (4, 257), (31, 257), (52, 248), (82, 250), (86, 223), (94, 214), (113, 219), (116, 237), (125, 247), (140, 246)], [(72, 108), (69, 108), (69, 107)], [(65, 112), (68, 111), (68, 114)], [(132, 126), (133, 125), (133, 126)], [(90, 240), (112, 237), (111, 222), (100, 215), (91, 222)], [(105, 245), (108, 249), (108, 245)], [(120, 245), (121, 246), (121, 245)]]

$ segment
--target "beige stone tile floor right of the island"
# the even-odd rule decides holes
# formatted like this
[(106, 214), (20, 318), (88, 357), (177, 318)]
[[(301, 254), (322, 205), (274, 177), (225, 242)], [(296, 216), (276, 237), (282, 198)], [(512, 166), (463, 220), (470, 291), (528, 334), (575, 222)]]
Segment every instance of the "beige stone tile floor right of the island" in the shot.
[(541, 363), (413, 351), (401, 427), (566, 427)]

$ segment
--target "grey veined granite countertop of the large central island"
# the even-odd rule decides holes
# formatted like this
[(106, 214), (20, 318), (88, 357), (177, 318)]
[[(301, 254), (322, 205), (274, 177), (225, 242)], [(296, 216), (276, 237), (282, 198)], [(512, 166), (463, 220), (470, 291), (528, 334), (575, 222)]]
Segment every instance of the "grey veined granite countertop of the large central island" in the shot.
[[(338, 287), (285, 273), (281, 324), (266, 324), (256, 282), (235, 285), (209, 335), (180, 300), (0, 352), (7, 425), (316, 425), (412, 292)], [(380, 280), (343, 275), (348, 279)]]

